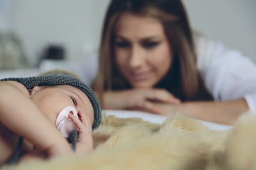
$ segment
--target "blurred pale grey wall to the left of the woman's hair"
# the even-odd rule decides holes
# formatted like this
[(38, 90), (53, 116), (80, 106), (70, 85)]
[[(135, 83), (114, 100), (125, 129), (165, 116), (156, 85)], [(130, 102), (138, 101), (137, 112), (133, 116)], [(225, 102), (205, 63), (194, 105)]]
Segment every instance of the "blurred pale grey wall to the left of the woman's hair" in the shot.
[(13, 27), (31, 63), (49, 44), (65, 46), (68, 59), (77, 59), (98, 45), (107, 4), (108, 0), (13, 0)]

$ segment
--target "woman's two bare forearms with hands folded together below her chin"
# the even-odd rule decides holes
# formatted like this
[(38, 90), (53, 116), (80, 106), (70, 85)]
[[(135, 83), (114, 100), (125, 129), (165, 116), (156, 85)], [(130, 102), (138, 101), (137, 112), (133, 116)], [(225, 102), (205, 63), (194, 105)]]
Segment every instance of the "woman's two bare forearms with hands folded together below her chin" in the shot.
[[(180, 112), (189, 117), (220, 124), (232, 124), (239, 115), (248, 110), (245, 99), (233, 101), (191, 101), (179, 104), (171, 103), (170, 101), (175, 101), (175, 97), (169, 94), (170, 101), (167, 103), (164, 102), (164, 99), (159, 99), (159, 97), (152, 98), (152, 96), (164, 96), (163, 94), (166, 94), (166, 92), (163, 93), (163, 91), (156, 90), (137, 89), (105, 92), (104, 109), (139, 109), (150, 113), (157, 113), (152, 111), (150, 107), (147, 107), (151, 106), (151, 108), (156, 108), (155, 110), (161, 110), (159, 114), (172, 115), (173, 113)], [(159, 92), (161, 92), (161, 95), (159, 95)], [(153, 101), (148, 99), (153, 99)]]

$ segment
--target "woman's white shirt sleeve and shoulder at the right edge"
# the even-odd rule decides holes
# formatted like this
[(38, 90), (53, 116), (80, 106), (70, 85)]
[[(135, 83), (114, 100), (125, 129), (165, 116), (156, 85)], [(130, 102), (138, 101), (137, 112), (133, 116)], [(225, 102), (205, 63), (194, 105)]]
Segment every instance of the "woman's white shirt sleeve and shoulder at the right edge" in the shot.
[(227, 48), (220, 41), (195, 39), (197, 67), (214, 100), (244, 98), (256, 111), (256, 65), (241, 52)]

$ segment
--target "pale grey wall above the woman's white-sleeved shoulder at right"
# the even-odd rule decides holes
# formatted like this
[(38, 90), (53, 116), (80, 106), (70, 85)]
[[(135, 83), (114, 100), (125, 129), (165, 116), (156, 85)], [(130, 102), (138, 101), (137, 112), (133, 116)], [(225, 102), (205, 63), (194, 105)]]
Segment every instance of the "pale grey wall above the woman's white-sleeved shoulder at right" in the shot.
[(255, 0), (182, 0), (193, 28), (256, 62)]

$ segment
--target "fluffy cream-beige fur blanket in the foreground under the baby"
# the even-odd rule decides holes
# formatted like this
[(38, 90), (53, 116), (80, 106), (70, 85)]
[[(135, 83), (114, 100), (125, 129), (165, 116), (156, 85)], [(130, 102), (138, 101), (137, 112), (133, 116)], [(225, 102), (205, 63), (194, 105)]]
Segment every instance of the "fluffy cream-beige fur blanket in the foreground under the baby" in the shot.
[(256, 169), (256, 115), (227, 131), (212, 131), (183, 115), (163, 124), (102, 115), (92, 153), (3, 169)]

